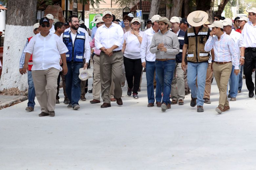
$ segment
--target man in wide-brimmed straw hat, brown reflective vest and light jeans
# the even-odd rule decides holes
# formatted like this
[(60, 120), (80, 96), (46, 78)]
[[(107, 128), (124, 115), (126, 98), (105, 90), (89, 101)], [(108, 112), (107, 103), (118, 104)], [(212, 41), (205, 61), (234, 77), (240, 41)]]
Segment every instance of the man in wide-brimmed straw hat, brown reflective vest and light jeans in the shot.
[(188, 61), (187, 79), (191, 90), (190, 106), (197, 105), (198, 112), (203, 112), (203, 94), (209, 59), (209, 52), (204, 51), (204, 45), (210, 35), (210, 30), (203, 26), (207, 19), (208, 14), (204, 11), (194, 11), (188, 15), (187, 21), (192, 27), (188, 28), (185, 33), (182, 50), (181, 66), (184, 71), (186, 70), (186, 55)]

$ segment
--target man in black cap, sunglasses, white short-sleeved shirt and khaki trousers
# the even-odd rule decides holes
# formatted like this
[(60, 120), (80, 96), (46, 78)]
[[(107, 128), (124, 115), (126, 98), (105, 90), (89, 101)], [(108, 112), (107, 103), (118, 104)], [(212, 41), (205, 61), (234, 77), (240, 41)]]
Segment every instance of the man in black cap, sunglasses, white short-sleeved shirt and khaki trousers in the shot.
[[(48, 18), (42, 18), (39, 22), (41, 32), (32, 37), (24, 50), (25, 63), (23, 73), (28, 70), (28, 62), (33, 53), (32, 77), (34, 81), (36, 98), (41, 106), (39, 116), (55, 116), (55, 103), (57, 93), (57, 78), (63, 69), (63, 74), (68, 72), (66, 63), (66, 52), (68, 51), (61, 39), (50, 32)], [(59, 61), (61, 57), (63, 66)]]

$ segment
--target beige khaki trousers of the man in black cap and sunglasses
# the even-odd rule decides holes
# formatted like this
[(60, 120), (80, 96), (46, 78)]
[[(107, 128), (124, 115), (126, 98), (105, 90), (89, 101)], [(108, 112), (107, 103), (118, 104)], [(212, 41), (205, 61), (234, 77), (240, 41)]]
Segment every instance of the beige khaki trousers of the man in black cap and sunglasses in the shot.
[(32, 70), (35, 94), (42, 112), (49, 113), (55, 109), (58, 76), (59, 70), (53, 67)]

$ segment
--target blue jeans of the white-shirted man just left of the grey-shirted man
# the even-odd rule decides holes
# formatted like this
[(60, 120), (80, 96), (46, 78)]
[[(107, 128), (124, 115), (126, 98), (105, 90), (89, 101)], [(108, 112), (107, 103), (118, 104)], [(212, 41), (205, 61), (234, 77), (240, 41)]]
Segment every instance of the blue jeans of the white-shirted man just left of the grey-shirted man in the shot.
[[(147, 79), (147, 93), (148, 93), (148, 103), (155, 103), (155, 95), (154, 95), (154, 74), (155, 74), (156, 66), (155, 61), (146, 61), (146, 79)], [(156, 74), (156, 101), (162, 101), (162, 93), (159, 79)]]

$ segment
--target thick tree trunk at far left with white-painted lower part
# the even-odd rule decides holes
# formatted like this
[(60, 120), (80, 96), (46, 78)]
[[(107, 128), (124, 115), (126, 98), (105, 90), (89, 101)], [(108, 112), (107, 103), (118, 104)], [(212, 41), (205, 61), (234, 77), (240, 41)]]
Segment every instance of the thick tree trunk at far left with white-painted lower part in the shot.
[(27, 75), (19, 73), (19, 59), (28, 37), (33, 35), (36, 19), (35, 0), (7, 1), (7, 20), (5, 28), (3, 71), (0, 90), (28, 87)]

